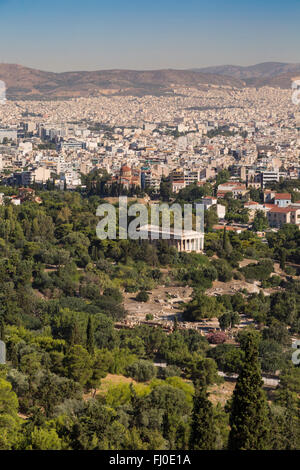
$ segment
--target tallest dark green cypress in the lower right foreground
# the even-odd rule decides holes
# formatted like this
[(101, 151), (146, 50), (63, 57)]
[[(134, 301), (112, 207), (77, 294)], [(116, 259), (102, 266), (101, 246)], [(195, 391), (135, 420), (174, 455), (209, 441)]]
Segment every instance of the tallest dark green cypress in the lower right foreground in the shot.
[(255, 335), (249, 332), (243, 343), (245, 360), (233, 392), (228, 447), (229, 450), (265, 450), (269, 440), (268, 406), (262, 390)]

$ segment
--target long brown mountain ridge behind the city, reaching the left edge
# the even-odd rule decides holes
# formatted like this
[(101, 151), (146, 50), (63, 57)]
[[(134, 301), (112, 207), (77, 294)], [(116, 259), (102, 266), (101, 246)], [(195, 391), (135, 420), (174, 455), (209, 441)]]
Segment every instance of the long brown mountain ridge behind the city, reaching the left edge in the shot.
[(99, 94), (163, 95), (179, 86), (244, 86), (234, 77), (189, 70), (100, 70), (53, 73), (21, 65), (0, 64), (0, 80), (11, 99), (59, 99)]

